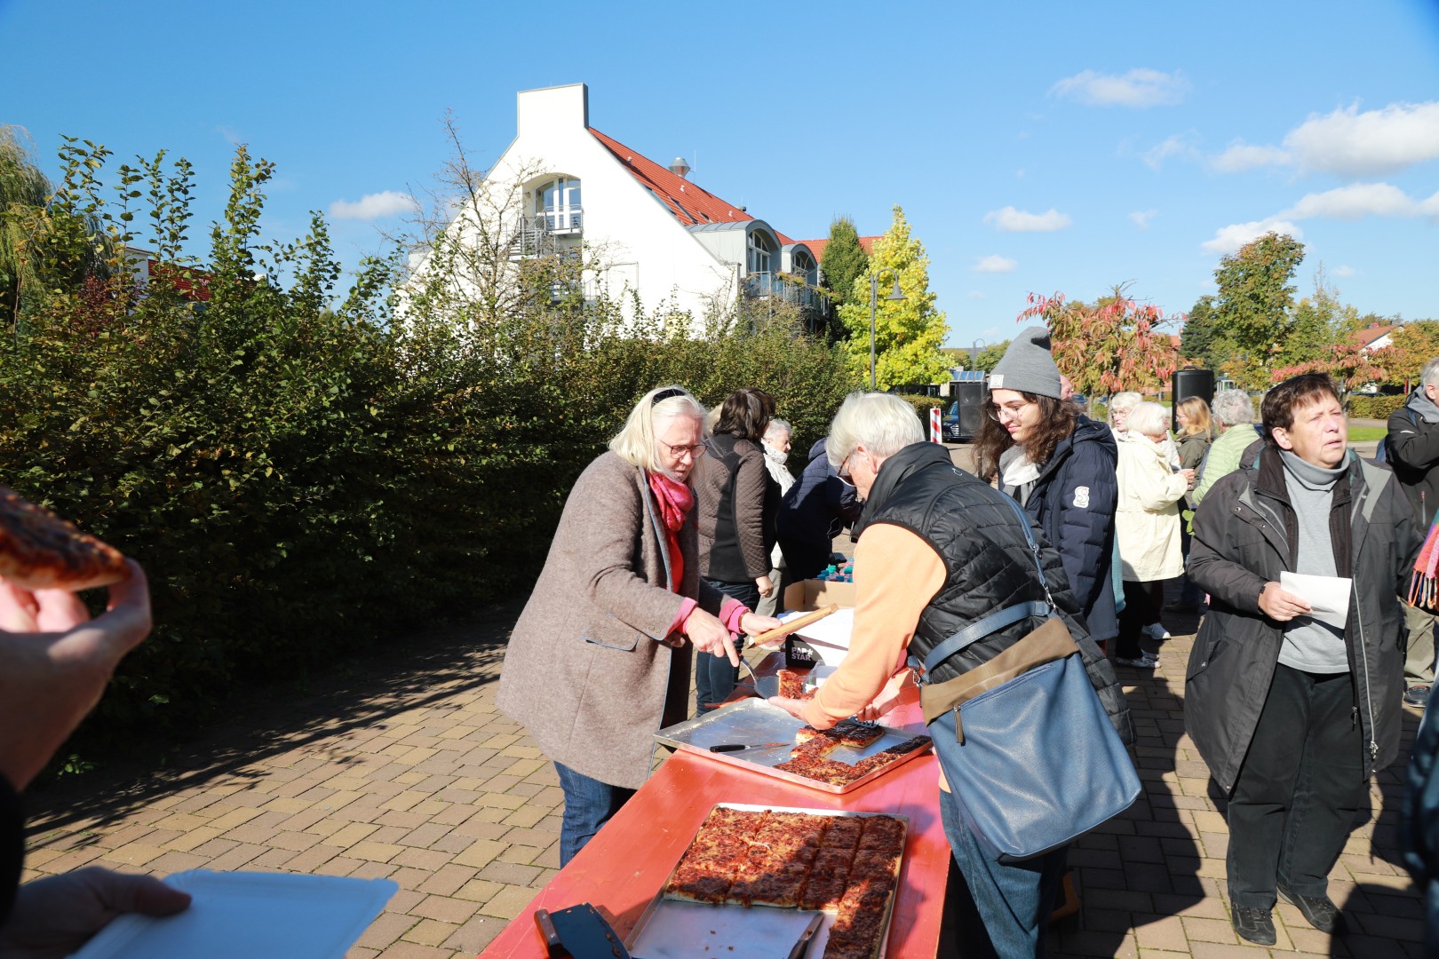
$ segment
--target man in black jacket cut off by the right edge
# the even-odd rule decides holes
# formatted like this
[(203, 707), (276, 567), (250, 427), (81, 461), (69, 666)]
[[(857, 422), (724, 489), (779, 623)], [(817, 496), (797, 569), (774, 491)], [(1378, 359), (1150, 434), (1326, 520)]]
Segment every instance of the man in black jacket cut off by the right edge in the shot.
[[(1419, 374), (1419, 388), (1404, 405), (1389, 414), (1389, 466), (1404, 487), (1419, 529), (1429, 529), (1439, 508), (1439, 359), (1430, 359)], [(1435, 680), (1435, 614), (1404, 604), (1409, 641), (1404, 653), (1404, 702), (1420, 709), (1429, 702)]]

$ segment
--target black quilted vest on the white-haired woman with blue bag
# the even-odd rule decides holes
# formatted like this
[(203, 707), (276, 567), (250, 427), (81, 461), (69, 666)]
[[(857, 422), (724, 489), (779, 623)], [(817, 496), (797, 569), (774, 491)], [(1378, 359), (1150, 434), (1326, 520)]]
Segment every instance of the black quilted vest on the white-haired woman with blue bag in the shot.
[[(948, 450), (934, 443), (907, 446), (879, 467), (861, 523), (894, 523), (921, 536), (944, 559), (948, 581), (920, 615), (909, 653), (920, 660), (938, 643), (1004, 607), (1043, 600), (1029, 541), (1013, 506), (989, 483), (955, 467)], [(1134, 742), (1130, 709), (1114, 669), (1089, 638), (1068, 589), (1059, 554), (1035, 531), (1040, 564), (1055, 605), (1079, 644), (1085, 670), (1124, 742)], [(968, 646), (940, 666), (934, 682), (984, 664), (1027, 633), (1039, 620), (1022, 620)]]

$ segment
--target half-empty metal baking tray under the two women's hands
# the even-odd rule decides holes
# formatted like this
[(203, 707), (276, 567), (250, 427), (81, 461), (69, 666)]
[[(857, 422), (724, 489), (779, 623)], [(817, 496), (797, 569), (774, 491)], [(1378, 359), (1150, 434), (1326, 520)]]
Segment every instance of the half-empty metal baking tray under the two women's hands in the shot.
[[(797, 733), (803, 726), (804, 720), (790, 716), (778, 706), (771, 706), (763, 699), (744, 699), (738, 703), (731, 703), (724, 709), (705, 713), (704, 716), (696, 716), (695, 719), (686, 719), (682, 723), (666, 726), (655, 733), (655, 740), (684, 752), (705, 756), (714, 762), (722, 762), (740, 769), (748, 769), (751, 772), (761, 772), (764, 775), (784, 779), (786, 782), (809, 786), (810, 789), (819, 789), (820, 792), (836, 794), (850, 792), (866, 782), (873, 782), (886, 772), (898, 769), (904, 763), (922, 756), (932, 748), (932, 743), (925, 743), (918, 749), (904, 753), (894, 762), (886, 762), (878, 769), (866, 772), (853, 782), (846, 782), (837, 786), (797, 776), (786, 769), (776, 769), (774, 766), (790, 758), (790, 749), (783, 746), (776, 749), (745, 749), (744, 752), (709, 752), (709, 746), (718, 746), (720, 743), (727, 742), (761, 743), (787, 740), (793, 743), (794, 733)], [(863, 748), (839, 746), (829, 753), (829, 759), (855, 765), (861, 759), (872, 756), (876, 752), (884, 752), (889, 746), (895, 746), (907, 739), (912, 739), (917, 735), (922, 735), (884, 725), (881, 725), (879, 729), (884, 732), (875, 742)]]

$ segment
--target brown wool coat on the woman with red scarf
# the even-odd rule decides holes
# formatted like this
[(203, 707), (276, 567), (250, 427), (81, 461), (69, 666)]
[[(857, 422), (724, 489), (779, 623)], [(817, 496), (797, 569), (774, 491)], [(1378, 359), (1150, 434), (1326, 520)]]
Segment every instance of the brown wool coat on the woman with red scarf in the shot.
[[(649, 778), (655, 730), (685, 719), (691, 647), (662, 640), (684, 602), (665, 588), (668, 545), (639, 467), (604, 453), (570, 490), (550, 555), (499, 673), (496, 705), (550, 759), (610, 785)], [(679, 531), (684, 597), (699, 582), (694, 510)]]

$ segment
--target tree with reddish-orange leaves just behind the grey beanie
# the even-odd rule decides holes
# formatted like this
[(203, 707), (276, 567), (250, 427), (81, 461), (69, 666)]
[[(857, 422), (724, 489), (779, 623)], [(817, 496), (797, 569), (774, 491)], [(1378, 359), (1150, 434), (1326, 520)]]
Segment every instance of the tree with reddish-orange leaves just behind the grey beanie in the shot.
[(1171, 321), (1121, 286), (1094, 306), (1066, 302), (1063, 293), (1030, 293), (1017, 322), (1036, 321), (1049, 326), (1059, 372), (1091, 401), (1122, 390), (1156, 390), (1179, 368), (1179, 352), (1160, 329)]

